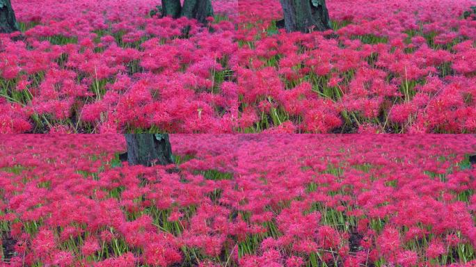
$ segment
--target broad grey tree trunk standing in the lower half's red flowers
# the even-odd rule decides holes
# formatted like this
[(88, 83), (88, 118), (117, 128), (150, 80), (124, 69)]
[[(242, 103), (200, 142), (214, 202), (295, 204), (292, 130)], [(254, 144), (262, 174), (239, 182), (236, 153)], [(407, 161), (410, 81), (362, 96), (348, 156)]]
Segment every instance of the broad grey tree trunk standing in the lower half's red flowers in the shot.
[(168, 134), (126, 134), (129, 165), (168, 165), (174, 163)]

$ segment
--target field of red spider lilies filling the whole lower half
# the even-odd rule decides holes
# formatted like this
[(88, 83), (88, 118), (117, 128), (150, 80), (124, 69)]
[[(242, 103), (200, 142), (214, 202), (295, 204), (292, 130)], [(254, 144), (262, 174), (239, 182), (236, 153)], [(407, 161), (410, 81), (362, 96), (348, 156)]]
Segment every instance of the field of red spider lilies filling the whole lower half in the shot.
[[(0, 140), (0, 266), (475, 266), (469, 135)], [(278, 153), (276, 153), (278, 152)]]

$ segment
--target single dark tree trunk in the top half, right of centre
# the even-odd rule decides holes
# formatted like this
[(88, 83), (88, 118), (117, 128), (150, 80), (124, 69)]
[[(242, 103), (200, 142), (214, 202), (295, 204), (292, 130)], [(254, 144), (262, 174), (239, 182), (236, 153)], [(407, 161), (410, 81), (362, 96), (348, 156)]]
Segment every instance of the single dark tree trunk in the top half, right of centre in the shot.
[(326, 0), (280, 0), (287, 32), (331, 29)]

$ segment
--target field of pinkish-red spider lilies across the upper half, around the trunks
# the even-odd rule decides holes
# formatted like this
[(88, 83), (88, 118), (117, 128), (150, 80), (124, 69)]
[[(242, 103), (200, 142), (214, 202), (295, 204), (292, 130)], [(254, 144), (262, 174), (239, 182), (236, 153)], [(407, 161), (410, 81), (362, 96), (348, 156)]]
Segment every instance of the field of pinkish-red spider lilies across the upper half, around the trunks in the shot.
[(475, 133), (474, 0), (327, 0), (334, 31), (285, 33), (278, 0), (13, 0), (1, 133)]

